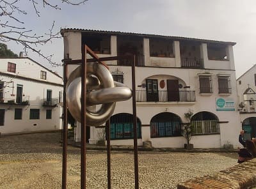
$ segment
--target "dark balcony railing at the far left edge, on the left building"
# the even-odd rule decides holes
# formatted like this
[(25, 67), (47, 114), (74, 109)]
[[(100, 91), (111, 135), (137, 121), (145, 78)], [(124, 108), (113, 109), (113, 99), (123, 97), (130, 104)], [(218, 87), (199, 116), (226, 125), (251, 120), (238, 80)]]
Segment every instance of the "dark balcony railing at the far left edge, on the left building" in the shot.
[(13, 104), (13, 105), (28, 105), (29, 96), (16, 94), (0, 93), (0, 103)]

